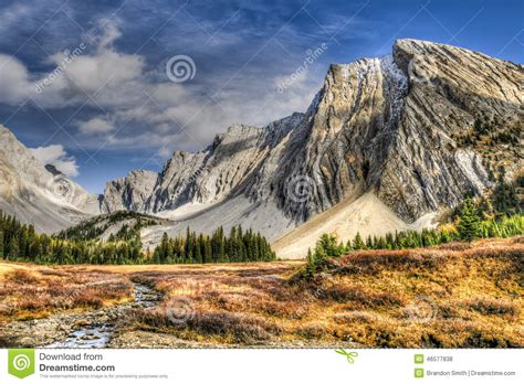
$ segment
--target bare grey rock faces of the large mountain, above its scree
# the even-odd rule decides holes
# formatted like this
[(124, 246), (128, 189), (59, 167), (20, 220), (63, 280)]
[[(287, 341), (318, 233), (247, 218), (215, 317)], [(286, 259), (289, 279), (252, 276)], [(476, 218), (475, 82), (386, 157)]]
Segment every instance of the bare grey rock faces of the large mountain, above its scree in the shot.
[(279, 233), (370, 192), (412, 223), (490, 186), (486, 159), (458, 137), (479, 111), (518, 116), (522, 74), (473, 51), (398, 40), (390, 55), (331, 65), (305, 114), (264, 128), (233, 125), (205, 151), (175, 153), (147, 210), (247, 199), (248, 216), (275, 206), (285, 217)]

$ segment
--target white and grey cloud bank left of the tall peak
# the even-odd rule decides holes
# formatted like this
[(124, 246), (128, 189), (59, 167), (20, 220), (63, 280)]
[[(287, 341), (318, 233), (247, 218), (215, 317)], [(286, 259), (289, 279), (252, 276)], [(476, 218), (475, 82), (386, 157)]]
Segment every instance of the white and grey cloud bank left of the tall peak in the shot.
[[(165, 154), (172, 149), (201, 150), (231, 124), (263, 126), (303, 111), (319, 87), (318, 79), (303, 74), (284, 93), (277, 92), (292, 72), (273, 77), (249, 71), (213, 73), (200, 83), (174, 83), (165, 72), (170, 56), (151, 67), (145, 55), (116, 47), (120, 24), (118, 19), (101, 19), (95, 33), (84, 36), (88, 49), (73, 46), (49, 55), (45, 62), (55, 68), (41, 75), (31, 74), (17, 57), (0, 54), (0, 102), (18, 105), (29, 99), (46, 110), (90, 107), (98, 113), (72, 121), (86, 148), (147, 146)], [(228, 36), (217, 33), (213, 41), (224, 43)], [(78, 54), (73, 57), (72, 51)], [(200, 64), (196, 60), (197, 67)]]

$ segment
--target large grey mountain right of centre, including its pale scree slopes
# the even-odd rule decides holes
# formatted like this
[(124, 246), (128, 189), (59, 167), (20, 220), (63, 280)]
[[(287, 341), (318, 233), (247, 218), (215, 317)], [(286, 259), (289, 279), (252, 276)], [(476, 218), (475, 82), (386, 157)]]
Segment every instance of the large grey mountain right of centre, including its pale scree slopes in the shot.
[(242, 224), (303, 256), (322, 232), (342, 237), (431, 225), (500, 167), (523, 164), (522, 65), (464, 49), (399, 40), (392, 54), (329, 67), (305, 114), (230, 127), (205, 151), (107, 184), (104, 212), (187, 226)]

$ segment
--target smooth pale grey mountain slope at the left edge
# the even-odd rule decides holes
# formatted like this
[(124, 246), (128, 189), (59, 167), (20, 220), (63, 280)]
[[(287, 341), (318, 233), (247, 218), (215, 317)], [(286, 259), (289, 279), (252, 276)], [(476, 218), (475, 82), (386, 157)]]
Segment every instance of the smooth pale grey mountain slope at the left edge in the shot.
[(0, 125), (0, 210), (53, 233), (98, 214), (99, 202), (53, 166), (40, 163)]

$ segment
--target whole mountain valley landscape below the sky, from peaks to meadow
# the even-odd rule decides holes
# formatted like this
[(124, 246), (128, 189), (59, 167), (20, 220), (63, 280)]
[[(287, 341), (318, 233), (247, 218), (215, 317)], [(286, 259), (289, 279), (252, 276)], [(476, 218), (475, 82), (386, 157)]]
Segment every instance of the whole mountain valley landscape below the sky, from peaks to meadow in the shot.
[(523, 82), (397, 40), (97, 194), (0, 126), (0, 348), (523, 348)]

